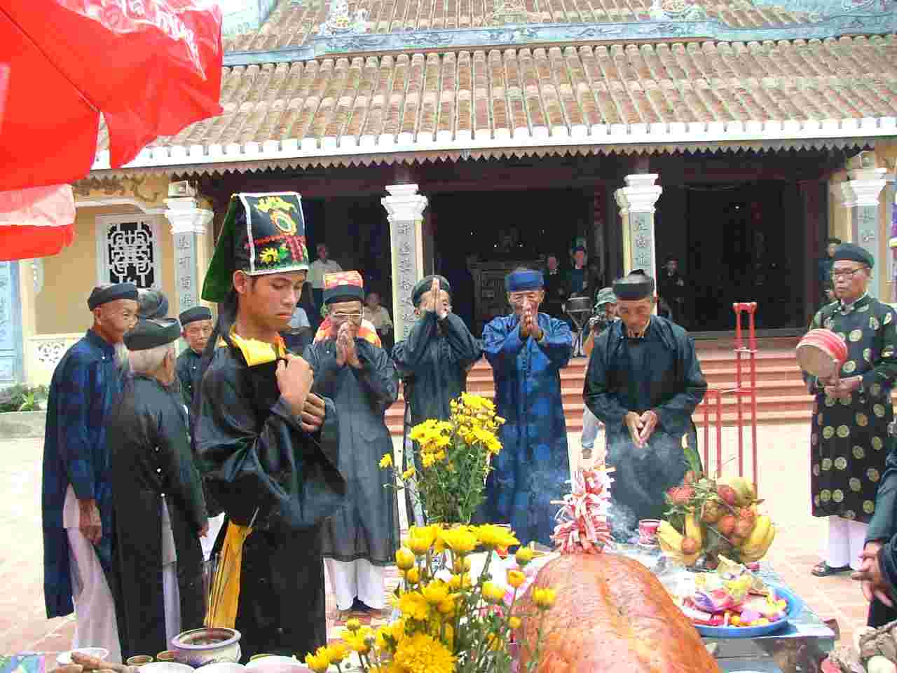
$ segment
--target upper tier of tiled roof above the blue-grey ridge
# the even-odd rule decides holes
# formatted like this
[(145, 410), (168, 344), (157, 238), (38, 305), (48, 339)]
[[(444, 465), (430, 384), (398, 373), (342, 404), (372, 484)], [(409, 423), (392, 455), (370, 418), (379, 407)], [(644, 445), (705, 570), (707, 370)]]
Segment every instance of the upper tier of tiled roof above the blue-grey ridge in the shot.
[[(524, 0), (523, 22), (632, 23), (649, 20), (652, 0)], [(699, 3), (707, 18), (732, 28), (758, 28), (806, 23), (806, 12), (750, 2)], [(224, 39), (226, 51), (263, 51), (299, 47), (327, 20), (329, 0), (281, 0), (258, 31)], [(353, 0), (349, 13), (366, 10), (368, 32), (433, 31), (502, 25), (493, 0)]]

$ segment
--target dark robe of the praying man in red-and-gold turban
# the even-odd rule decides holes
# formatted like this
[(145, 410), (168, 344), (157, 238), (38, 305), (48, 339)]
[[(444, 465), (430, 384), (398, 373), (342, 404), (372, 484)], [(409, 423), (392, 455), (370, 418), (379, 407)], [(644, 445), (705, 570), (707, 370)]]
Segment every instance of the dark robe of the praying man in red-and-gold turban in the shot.
[(361, 368), (340, 367), (335, 343), (318, 341), (304, 354), (315, 370), (312, 392), (333, 399), (337, 408), (340, 472), (347, 482), (347, 502), (321, 525), (323, 552), (337, 561), (393, 565), (399, 543), (396, 490), (379, 461), (393, 453), (383, 418), (398, 398), (396, 368), (386, 351), (359, 338), (355, 349)]

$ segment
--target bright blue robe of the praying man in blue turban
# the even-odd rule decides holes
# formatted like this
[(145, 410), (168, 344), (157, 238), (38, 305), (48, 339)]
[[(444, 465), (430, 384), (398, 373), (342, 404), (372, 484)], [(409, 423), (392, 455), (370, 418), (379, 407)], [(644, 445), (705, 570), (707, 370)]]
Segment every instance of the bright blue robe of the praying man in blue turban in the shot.
[(567, 323), (539, 313), (543, 341), (521, 340), (519, 322), (505, 316), (483, 329), (495, 406), (506, 421), (501, 453), (486, 480), (483, 518), (509, 523), (521, 542), (550, 545), (558, 509), (551, 501), (570, 490), (560, 371), (570, 360), (573, 339)]

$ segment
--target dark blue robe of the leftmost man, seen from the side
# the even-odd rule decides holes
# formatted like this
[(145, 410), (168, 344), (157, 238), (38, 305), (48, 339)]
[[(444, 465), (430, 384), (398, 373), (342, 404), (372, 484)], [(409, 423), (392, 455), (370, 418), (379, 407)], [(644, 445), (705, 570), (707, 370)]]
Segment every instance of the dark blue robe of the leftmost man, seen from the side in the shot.
[(112, 568), (112, 485), (106, 418), (122, 389), (115, 347), (93, 330), (66, 351), (50, 382), (44, 436), (41, 503), (44, 529), (44, 601), (47, 616), (72, 614), (72, 573), (63, 528), (65, 492), (95, 500), (102, 538), (95, 546), (100, 565)]

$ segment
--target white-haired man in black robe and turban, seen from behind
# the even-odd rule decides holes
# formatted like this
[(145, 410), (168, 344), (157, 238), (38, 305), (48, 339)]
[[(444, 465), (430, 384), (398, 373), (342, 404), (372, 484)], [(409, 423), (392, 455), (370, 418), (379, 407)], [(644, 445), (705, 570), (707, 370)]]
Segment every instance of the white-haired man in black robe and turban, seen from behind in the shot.
[[(141, 320), (125, 335), (131, 378), (109, 416), (115, 505), (113, 559), (122, 656), (168, 649), (203, 625), (209, 529), (175, 384), (176, 319)], [(161, 589), (161, 590), (160, 590)]]

